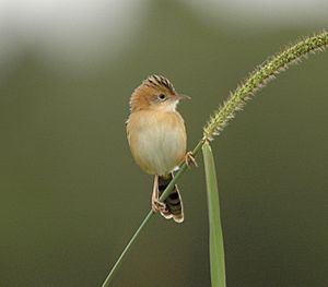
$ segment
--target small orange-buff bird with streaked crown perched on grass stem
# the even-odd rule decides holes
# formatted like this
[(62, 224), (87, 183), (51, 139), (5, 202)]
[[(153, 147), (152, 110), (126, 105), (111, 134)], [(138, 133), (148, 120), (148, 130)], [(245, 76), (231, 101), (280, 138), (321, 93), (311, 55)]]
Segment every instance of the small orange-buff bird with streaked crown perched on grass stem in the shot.
[(184, 222), (184, 205), (177, 186), (164, 202), (160, 202), (160, 198), (179, 164), (184, 160), (196, 164), (192, 153), (186, 153), (185, 122), (176, 110), (179, 100), (189, 98), (177, 93), (163, 75), (150, 75), (133, 91), (127, 120), (132, 157), (143, 171), (154, 176), (152, 210), (176, 223)]

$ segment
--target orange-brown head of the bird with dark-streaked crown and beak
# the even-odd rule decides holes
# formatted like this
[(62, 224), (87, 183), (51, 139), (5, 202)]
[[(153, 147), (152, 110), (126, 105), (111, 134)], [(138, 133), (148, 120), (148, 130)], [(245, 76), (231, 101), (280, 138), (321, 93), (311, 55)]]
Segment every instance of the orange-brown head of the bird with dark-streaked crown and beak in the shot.
[(131, 111), (152, 109), (157, 111), (174, 111), (180, 99), (190, 98), (178, 94), (172, 83), (162, 75), (151, 75), (132, 93)]

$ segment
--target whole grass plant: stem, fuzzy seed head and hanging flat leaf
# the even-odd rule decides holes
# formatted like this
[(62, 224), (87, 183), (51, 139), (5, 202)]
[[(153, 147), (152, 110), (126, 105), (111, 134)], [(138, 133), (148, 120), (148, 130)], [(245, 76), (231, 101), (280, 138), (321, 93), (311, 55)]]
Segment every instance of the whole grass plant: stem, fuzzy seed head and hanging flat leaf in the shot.
[[(234, 93), (231, 94), (224, 105), (210, 118), (208, 124), (204, 127), (203, 137), (198, 142), (194, 148), (192, 154), (197, 156), (202, 148), (206, 166), (208, 199), (209, 199), (209, 222), (210, 222), (210, 258), (211, 258), (211, 278), (212, 286), (225, 287), (225, 267), (224, 267), (224, 250), (223, 250), (223, 236), (220, 219), (219, 193), (216, 187), (216, 176), (212, 152), (208, 141), (213, 140), (226, 123), (234, 117), (235, 112), (239, 110), (247, 99), (256, 95), (259, 88), (263, 87), (268, 80), (273, 79), (281, 71), (285, 70), (293, 62), (298, 62), (302, 58), (309, 52), (324, 50), (328, 46), (328, 32), (324, 31), (315, 36), (304, 38), (294, 46), (284, 49), (281, 53), (271, 57), (262, 65), (258, 67), (248, 79), (242, 83)], [(173, 190), (174, 184), (178, 181), (181, 175), (187, 170), (186, 164), (180, 165), (179, 171), (171, 181), (168, 187), (161, 195), (161, 201), (164, 201), (169, 192)], [(117, 273), (122, 260), (128, 254), (128, 251), (136, 242), (141, 230), (145, 227), (147, 223), (152, 217), (153, 212), (150, 211), (142, 224), (132, 236), (129, 243), (118, 258), (109, 275), (104, 282), (104, 287), (109, 286), (114, 275)]]

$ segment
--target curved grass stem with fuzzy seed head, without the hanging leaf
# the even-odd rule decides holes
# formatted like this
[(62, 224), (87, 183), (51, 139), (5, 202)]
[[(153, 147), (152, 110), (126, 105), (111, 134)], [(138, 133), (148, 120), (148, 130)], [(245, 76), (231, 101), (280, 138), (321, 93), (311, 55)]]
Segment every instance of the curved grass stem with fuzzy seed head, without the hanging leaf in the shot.
[[(261, 67), (257, 68), (249, 77), (229, 97), (227, 101), (219, 109), (219, 111), (210, 119), (203, 131), (203, 137), (198, 142), (196, 147), (192, 151), (194, 156), (197, 156), (202, 145), (213, 139), (214, 135), (219, 134), (226, 125), (226, 123), (234, 117), (234, 113), (239, 110), (255, 93), (268, 82), (268, 80), (273, 79), (274, 75), (279, 74), (282, 70), (290, 67), (291, 63), (294, 63), (309, 52), (315, 52), (323, 50), (328, 45), (328, 33), (323, 32), (321, 34), (315, 35), (313, 37), (305, 38), (304, 40), (298, 41), (294, 46), (283, 50), (281, 53), (272, 57), (270, 60), (265, 62)], [(174, 184), (186, 171), (187, 165), (184, 163), (178, 172), (175, 175), (174, 179), (167, 186), (160, 200), (164, 201), (171, 191), (173, 190)], [(110, 273), (106, 277), (103, 287), (109, 286), (114, 275), (116, 274), (118, 267), (121, 265), (122, 260), (128, 254), (129, 249), (134, 243), (139, 234), (143, 227), (148, 224), (152, 217), (153, 212), (150, 211), (147, 217), (143, 219), (122, 253), (118, 258), (117, 262), (113, 266)]]

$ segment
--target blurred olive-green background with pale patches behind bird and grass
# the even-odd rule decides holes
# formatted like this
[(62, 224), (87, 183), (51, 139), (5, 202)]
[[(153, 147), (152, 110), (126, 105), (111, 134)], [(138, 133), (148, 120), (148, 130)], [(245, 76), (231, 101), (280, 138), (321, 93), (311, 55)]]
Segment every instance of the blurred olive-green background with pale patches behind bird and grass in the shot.
[[(0, 286), (101, 286), (148, 213), (131, 92), (163, 74), (191, 150), (257, 64), (327, 27), (328, 2), (0, 1)], [(227, 286), (328, 286), (328, 55), (279, 75), (212, 144)], [(186, 220), (154, 216), (113, 286), (210, 286), (202, 159)]]

